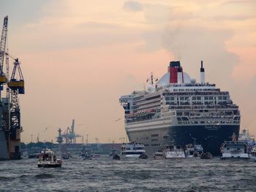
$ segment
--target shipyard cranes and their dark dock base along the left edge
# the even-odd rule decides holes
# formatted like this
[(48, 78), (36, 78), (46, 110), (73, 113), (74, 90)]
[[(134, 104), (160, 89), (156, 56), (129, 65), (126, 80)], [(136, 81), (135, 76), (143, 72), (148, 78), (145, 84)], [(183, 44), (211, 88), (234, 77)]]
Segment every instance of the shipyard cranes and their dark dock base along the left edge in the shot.
[[(18, 58), (7, 52), (8, 16), (4, 18), (0, 42), (0, 160), (20, 159), (20, 105), (18, 95), (24, 94), (24, 79)], [(13, 59), (9, 75), (9, 60)]]

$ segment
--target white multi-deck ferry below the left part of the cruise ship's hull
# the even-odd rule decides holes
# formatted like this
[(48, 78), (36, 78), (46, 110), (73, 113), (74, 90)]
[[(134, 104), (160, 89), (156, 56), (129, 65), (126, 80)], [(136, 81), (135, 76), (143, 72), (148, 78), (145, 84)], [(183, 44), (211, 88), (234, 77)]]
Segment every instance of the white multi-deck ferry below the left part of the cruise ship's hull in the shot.
[(141, 143), (124, 143), (121, 145), (121, 155), (127, 158), (139, 158), (143, 153), (146, 153), (145, 146)]

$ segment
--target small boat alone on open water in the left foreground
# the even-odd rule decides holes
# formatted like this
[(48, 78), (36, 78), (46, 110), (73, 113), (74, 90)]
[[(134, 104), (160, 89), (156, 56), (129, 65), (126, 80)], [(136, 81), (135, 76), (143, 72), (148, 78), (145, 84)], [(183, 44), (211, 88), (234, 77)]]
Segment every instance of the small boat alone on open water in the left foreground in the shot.
[(45, 149), (41, 151), (37, 163), (38, 167), (61, 167), (61, 165), (61, 159), (56, 159), (56, 155), (52, 150)]

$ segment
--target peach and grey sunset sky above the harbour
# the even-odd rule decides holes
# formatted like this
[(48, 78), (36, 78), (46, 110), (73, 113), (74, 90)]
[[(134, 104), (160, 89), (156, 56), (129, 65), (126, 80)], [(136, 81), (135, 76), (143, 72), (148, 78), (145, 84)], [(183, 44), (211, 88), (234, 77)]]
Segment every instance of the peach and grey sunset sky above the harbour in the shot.
[(254, 0), (2, 0), (1, 26), (6, 15), (7, 46), (26, 86), (24, 142), (56, 142), (73, 118), (89, 142), (120, 142), (119, 97), (176, 60), (197, 80), (203, 60), (206, 81), (230, 92), (241, 130), (256, 135)]

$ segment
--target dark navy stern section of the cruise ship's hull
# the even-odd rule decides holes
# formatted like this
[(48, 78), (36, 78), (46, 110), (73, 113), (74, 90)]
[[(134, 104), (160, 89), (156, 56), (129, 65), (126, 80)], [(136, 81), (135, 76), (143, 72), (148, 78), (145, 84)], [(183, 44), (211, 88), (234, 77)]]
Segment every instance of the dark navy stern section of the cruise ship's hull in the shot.
[(233, 133), (239, 134), (240, 126), (175, 126), (168, 131), (176, 145), (185, 147), (194, 141), (203, 146), (204, 152), (219, 155), (224, 141), (231, 140)]

